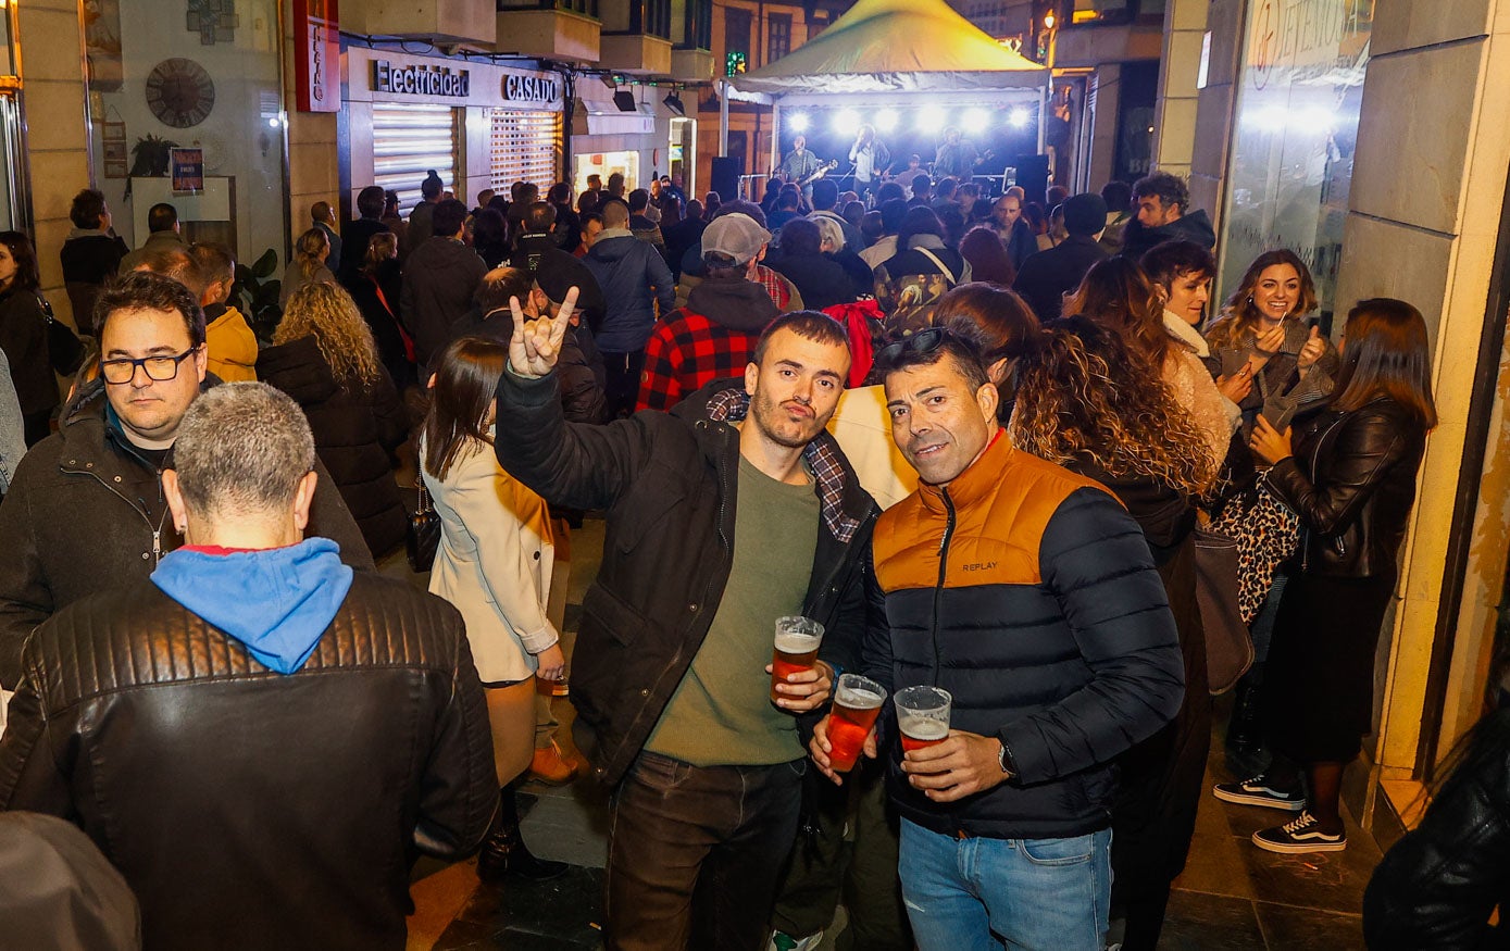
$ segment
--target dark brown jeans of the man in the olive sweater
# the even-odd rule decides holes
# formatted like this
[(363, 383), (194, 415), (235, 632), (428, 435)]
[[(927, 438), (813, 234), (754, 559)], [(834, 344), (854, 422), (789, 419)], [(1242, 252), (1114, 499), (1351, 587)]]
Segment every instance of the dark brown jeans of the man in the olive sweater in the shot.
[(761, 951), (805, 770), (640, 753), (609, 800), (607, 951)]

